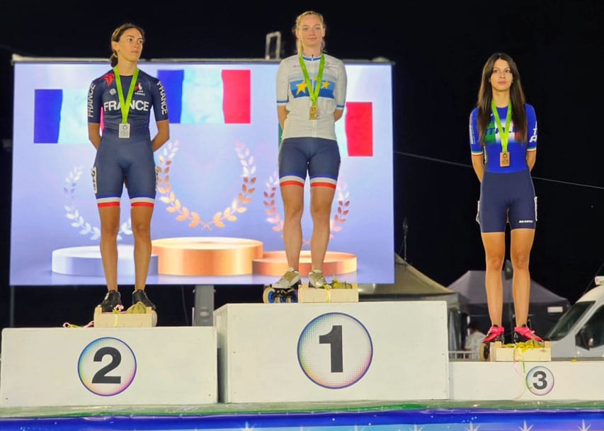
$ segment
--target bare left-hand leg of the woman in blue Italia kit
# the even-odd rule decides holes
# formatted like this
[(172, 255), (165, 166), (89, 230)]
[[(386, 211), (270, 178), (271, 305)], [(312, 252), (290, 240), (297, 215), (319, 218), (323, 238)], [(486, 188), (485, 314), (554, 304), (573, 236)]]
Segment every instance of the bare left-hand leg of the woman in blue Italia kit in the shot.
[(503, 280), (501, 268), (506, 254), (505, 232), (483, 232), (482, 243), (486, 261), (484, 285), (486, 287), (486, 304), (489, 308), (491, 325), (501, 326), (503, 313)]

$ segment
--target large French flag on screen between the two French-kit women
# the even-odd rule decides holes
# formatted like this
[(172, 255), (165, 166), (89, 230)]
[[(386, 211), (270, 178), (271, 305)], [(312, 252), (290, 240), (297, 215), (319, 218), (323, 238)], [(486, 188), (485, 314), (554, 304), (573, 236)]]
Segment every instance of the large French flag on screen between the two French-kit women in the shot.
[(171, 123), (249, 124), (249, 69), (159, 70)]

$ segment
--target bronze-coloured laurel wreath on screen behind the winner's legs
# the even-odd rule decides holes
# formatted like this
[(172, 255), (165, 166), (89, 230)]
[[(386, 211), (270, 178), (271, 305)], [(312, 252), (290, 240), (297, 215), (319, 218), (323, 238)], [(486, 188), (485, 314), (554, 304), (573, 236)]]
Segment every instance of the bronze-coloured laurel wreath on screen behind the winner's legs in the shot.
[[(279, 214), (275, 205), (275, 195), (277, 194), (278, 188), (279, 175), (275, 172), (268, 177), (268, 182), (266, 183), (266, 190), (264, 191), (264, 207), (266, 208), (266, 215), (268, 215), (266, 221), (273, 225), (273, 231), (282, 232), (284, 219), (281, 217), (281, 214)], [(338, 210), (331, 219), (331, 222), (329, 222), (329, 239), (334, 238), (334, 232), (342, 230), (342, 225), (346, 223), (346, 217), (348, 216), (351, 205), (348, 186), (342, 180), (338, 181), (336, 195), (338, 197)], [(310, 245), (310, 240), (302, 239), (302, 246), (308, 245)]]

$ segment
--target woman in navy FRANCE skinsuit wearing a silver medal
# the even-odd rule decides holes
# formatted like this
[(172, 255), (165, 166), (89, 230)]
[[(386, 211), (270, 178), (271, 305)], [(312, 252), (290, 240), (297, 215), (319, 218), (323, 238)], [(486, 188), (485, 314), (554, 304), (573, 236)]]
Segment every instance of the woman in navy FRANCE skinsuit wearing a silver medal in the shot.
[[(110, 69), (92, 81), (88, 95), (89, 139), (96, 148), (92, 180), (101, 218), (101, 258), (108, 292), (103, 312), (123, 309), (118, 291), (118, 232), (124, 185), (130, 197), (135, 239), (135, 291), (132, 304), (155, 309), (144, 288), (151, 260), (151, 218), (156, 193), (153, 152), (169, 139), (166, 93), (161, 81), (138, 69), (144, 30), (132, 23), (111, 36)], [(151, 138), (153, 110), (157, 134)], [(103, 130), (101, 134), (101, 122)]]

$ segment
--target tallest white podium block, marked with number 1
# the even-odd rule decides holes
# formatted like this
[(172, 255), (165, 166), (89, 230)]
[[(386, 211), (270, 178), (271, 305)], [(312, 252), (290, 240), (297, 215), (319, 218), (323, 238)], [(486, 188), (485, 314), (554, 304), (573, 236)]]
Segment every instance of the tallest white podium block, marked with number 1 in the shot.
[(225, 403), (448, 398), (445, 301), (227, 304)]

